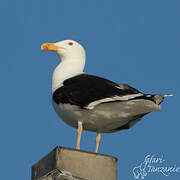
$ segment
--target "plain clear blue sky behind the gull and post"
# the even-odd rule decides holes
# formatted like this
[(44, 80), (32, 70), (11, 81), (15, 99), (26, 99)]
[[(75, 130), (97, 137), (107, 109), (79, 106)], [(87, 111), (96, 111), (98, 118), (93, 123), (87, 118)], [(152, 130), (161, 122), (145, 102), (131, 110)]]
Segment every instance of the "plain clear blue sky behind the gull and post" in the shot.
[[(0, 179), (30, 179), (31, 166), (56, 146), (74, 147), (76, 129), (51, 105), (51, 76), (59, 60), (44, 42), (74, 39), (86, 49), (85, 72), (146, 93), (173, 93), (132, 129), (102, 134), (100, 153), (115, 156), (118, 180), (147, 154), (180, 166), (179, 0), (4, 0), (0, 6)], [(83, 150), (96, 134), (84, 132)], [(157, 165), (157, 164), (156, 164)], [(180, 178), (149, 173), (149, 179)]]

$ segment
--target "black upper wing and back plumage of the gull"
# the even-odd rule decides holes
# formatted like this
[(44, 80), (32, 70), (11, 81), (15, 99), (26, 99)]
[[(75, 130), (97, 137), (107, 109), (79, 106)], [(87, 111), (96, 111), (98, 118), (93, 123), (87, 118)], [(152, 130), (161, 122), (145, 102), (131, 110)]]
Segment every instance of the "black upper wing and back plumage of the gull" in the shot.
[(81, 108), (100, 99), (141, 93), (126, 84), (118, 85), (107, 79), (88, 74), (67, 79), (63, 85), (53, 93), (53, 100), (57, 104), (70, 103)]

